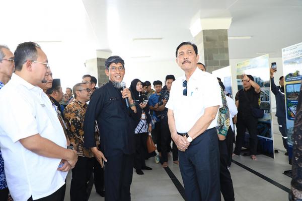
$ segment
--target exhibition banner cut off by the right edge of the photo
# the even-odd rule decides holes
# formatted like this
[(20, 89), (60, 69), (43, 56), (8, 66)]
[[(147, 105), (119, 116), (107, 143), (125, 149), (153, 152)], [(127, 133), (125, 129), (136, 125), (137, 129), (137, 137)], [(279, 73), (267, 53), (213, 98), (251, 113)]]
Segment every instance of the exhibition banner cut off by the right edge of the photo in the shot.
[[(294, 117), (297, 110), (302, 72), (302, 43), (282, 49), (283, 76), (286, 104), (286, 128), (288, 157), (292, 157), (292, 134)], [(289, 163), (291, 161), (289, 160)]]

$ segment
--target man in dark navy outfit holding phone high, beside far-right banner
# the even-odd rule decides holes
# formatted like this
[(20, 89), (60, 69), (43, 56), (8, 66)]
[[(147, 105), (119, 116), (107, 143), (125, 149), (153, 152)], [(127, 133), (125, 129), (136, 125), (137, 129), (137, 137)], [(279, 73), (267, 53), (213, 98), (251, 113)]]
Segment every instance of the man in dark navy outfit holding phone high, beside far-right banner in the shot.
[(282, 135), (282, 141), (283, 141), (283, 146), (286, 149), (285, 155), (287, 156), (287, 132), (286, 132), (286, 114), (285, 114), (285, 97), (284, 97), (284, 77), (281, 76), (279, 78), (279, 85), (276, 86), (274, 82), (274, 73), (276, 72), (276, 68), (273, 68), (273, 63), (272, 66), (269, 70), (270, 72), (270, 86), (272, 92), (275, 94), (276, 98), (276, 117), (277, 121), (279, 124), (279, 131), (281, 132)]

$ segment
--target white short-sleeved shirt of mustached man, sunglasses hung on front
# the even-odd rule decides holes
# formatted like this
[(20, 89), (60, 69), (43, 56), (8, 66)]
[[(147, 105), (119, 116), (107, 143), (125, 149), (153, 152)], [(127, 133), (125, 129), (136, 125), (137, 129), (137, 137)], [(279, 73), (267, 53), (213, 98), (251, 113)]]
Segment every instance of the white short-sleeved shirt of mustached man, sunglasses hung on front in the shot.
[[(187, 83), (187, 96), (183, 95), (182, 76), (172, 83), (170, 98), (166, 105), (173, 110), (176, 130), (179, 133), (188, 132), (203, 115), (204, 109), (222, 106), (220, 86), (217, 78), (196, 68)], [(217, 112), (218, 114), (218, 112)], [(217, 115), (207, 129), (217, 126)]]

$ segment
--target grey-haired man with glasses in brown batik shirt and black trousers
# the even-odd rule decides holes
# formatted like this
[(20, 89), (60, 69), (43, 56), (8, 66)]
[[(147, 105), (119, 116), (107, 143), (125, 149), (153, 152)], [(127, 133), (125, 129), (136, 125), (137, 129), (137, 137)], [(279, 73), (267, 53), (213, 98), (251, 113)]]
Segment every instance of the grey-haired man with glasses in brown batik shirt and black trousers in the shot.
[[(91, 90), (85, 83), (74, 85), (74, 99), (69, 103), (64, 116), (67, 120), (68, 137), (75, 151), (78, 152), (78, 162), (72, 169), (72, 179), (70, 184), (70, 200), (87, 200), (87, 183), (91, 177), (94, 165), (94, 155), (90, 149), (84, 147), (84, 118), (87, 110), (87, 102), (90, 100)], [(97, 129), (94, 132), (97, 145), (99, 144), (99, 134)]]

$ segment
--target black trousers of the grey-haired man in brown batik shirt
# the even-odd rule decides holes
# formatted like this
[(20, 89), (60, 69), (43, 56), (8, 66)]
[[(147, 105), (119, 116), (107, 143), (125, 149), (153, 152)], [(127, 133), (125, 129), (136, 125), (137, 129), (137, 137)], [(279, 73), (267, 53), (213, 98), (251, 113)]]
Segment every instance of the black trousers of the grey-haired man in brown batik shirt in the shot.
[(70, 201), (88, 200), (88, 181), (93, 171), (94, 160), (94, 157), (78, 157), (77, 164), (71, 170)]

